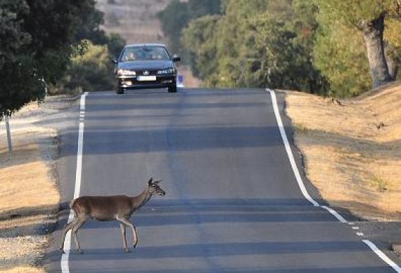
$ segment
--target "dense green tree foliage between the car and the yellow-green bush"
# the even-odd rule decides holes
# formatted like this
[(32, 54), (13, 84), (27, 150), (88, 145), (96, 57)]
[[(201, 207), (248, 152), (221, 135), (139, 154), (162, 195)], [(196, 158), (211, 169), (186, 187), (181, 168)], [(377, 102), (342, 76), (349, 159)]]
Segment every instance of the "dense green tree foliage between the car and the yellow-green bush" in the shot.
[(207, 86), (325, 93), (327, 81), (310, 58), (314, 8), (291, 0), (223, 1), (223, 15), (201, 17), (183, 31), (195, 75)]

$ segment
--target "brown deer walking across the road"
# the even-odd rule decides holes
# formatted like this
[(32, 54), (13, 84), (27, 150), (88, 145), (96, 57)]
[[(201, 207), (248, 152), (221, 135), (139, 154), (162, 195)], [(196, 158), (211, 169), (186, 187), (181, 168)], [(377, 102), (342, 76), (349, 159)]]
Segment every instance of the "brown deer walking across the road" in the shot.
[(129, 218), (136, 210), (148, 203), (152, 196), (164, 196), (166, 194), (166, 192), (164, 192), (164, 190), (159, 186), (159, 182), (161, 181), (162, 180), (153, 181), (153, 178), (150, 178), (146, 189), (141, 192), (141, 194), (134, 197), (125, 195), (81, 196), (73, 199), (70, 202), (70, 209), (74, 212), (74, 218), (63, 229), (60, 251), (65, 253), (65, 235), (71, 230), (77, 251), (79, 253), (84, 253), (78, 242), (77, 231), (88, 219), (95, 219), (97, 221), (118, 221), (123, 236), (123, 250), (125, 253), (129, 252), (125, 228), (131, 228), (134, 237), (133, 248), (135, 249), (139, 240), (138, 235), (136, 234), (136, 228), (134, 224), (129, 221)]

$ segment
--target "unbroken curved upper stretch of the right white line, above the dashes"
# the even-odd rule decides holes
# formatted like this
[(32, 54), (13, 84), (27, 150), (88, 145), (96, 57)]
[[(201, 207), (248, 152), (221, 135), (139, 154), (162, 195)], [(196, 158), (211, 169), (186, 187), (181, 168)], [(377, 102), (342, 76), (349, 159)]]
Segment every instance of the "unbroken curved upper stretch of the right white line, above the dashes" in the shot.
[(317, 203), (315, 200), (313, 200), (312, 197), (310, 197), (310, 195), (304, 185), (304, 181), (302, 181), (301, 175), (299, 174), (297, 164), (295, 164), (294, 155), (292, 155), (290, 143), (288, 142), (287, 135), (285, 134), (283, 121), (281, 120), (281, 116), (280, 116), (280, 111), (278, 111), (276, 93), (274, 93), (274, 91), (272, 91), (270, 89), (267, 89), (267, 91), (269, 91), (270, 95), (272, 96), (272, 104), (273, 104), (274, 114), (276, 115), (278, 129), (280, 130), (281, 138), (283, 139), (285, 150), (287, 151), (288, 159), (290, 159), (292, 171), (294, 172), (294, 176), (297, 179), (299, 189), (301, 189), (301, 192), (302, 192), (302, 194), (304, 194), (304, 197), (306, 198), (306, 200), (308, 200), (310, 203), (312, 203), (315, 207), (318, 207), (318, 206), (320, 206), (319, 203)]

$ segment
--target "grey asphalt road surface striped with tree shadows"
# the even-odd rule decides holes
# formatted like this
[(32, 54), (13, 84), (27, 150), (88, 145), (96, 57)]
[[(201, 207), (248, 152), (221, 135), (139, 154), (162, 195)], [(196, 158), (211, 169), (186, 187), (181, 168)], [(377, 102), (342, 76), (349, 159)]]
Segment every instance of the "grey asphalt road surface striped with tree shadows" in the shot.
[[(167, 194), (133, 215), (139, 245), (131, 253), (123, 253), (117, 222), (88, 222), (79, 231), (85, 253), (72, 244), (68, 272), (395, 272), (353, 226), (304, 198), (267, 91), (90, 93), (84, 124), (80, 196), (134, 196), (150, 177)], [(68, 201), (77, 127), (62, 139)], [(49, 271), (61, 272), (61, 254), (54, 249), (49, 260)]]

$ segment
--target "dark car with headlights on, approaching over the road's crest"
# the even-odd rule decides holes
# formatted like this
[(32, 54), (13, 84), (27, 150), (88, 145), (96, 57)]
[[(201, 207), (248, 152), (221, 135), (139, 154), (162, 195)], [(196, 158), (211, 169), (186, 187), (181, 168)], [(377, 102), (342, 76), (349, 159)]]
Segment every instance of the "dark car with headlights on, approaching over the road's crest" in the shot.
[(128, 89), (168, 88), (169, 93), (177, 92), (177, 66), (181, 58), (171, 56), (166, 45), (126, 45), (116, 64), (116, 93)]

